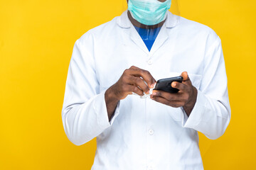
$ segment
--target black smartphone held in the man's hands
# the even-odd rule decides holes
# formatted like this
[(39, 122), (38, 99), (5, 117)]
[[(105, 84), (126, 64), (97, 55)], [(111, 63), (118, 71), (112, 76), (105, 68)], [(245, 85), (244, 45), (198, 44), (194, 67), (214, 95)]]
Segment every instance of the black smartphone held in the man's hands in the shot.
[(175, 94), (179, 90), (176, 88), (173, 88), (171, 86), (171, 83), (174, 81), (178, 81), (181, 83), (182, 80), (183, 80), (183, 77), (171, 77), (171, 78), (167, 78), (167, 79), (159, 79), (156, 82), (156, 86), (155, 86), (154, 90), (161, 90), (161, 91), (169, 92), (171, 94)]

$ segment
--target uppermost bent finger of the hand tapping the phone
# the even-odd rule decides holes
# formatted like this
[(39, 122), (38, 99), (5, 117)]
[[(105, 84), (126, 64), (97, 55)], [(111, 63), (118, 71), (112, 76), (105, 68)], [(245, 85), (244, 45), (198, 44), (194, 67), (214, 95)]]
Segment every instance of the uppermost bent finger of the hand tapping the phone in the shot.
[(138, 67), (131, 67), (131, 69), (129, 70), (129, 74), (136, 77), (142, 77), (142, 79), (146, 81), (146, 84), (148, 84), (150, 88), (153, 88), (154, 83), (156, 83), (156, 80), (154, 79), (154, 77), (152, 77), (149, 71), (146, 71), (144, 69), (139, 69)]

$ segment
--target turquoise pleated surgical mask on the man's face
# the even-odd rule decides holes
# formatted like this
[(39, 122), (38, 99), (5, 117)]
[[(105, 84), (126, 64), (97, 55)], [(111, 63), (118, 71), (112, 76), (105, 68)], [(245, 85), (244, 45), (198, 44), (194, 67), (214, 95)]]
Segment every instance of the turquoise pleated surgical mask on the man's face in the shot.
[(153, 26), (164, 21), (169, 8), (171, 8), (171, 0), (164, 2), (158, 0), (128, 1), (128, 10), (132, 17), (146, 26)]

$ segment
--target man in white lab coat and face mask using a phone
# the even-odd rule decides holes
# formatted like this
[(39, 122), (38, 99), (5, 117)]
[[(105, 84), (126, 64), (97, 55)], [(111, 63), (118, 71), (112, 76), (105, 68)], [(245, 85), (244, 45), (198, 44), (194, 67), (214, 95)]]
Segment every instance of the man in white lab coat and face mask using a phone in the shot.
[[(122, 16), (75, 42), (63, 126), (75, 145), (97, 137), (92, 169), (203, 169), (198, 131), (217, 139), (230, 122), (220, 38), (170, 6), (129, 0)], [(139, 97), (180, 74), (178, 93)]]

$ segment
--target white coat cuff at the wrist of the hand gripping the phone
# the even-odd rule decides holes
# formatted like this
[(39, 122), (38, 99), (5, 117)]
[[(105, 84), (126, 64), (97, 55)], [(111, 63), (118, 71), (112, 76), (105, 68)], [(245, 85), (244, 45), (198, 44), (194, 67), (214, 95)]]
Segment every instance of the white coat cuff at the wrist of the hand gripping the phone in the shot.
[(189, 117), (184, 109), (181, 108), (181, 110), (183, 111), (183, 115), (181, 116), (181, 123), (183, 128), (196, 128), (196, 126), (201, 122), (203, 118), (205, 106), (206, 96), (203, 94), (203, 92), (198, 90), (196, 103)]

